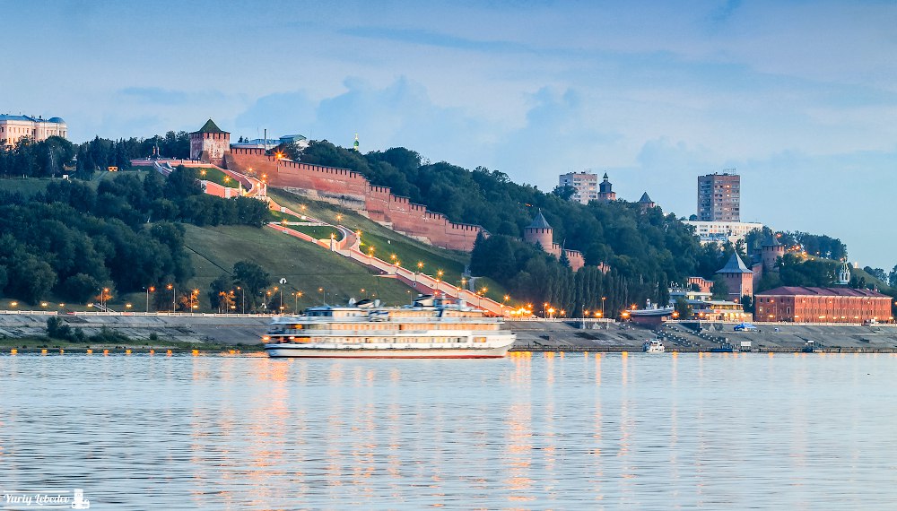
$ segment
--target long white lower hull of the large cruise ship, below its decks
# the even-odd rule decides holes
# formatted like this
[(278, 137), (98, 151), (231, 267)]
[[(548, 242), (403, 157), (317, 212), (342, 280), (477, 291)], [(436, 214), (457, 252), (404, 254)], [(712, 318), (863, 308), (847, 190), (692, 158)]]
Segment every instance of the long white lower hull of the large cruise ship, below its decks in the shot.
[(369, 348), (335, 344), (266, 344), (272, 358), (294, 359), (501, 359), (513, 342), (493, 348)]

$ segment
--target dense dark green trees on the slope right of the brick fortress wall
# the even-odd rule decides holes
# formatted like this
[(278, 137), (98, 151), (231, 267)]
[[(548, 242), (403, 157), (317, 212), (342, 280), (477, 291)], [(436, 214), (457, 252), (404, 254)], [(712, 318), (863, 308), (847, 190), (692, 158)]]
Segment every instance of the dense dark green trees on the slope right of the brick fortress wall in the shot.
[[(359, 171), (371, 183), (390, 186), (396, 195), (406, 195), (451, 221), (482, 225), (492, 237), (478, 241), (471, 270), (534, 304), (588, 309), (601, 296), (608, 310), (632, 303), (642, 307), (646, 299), (664, 303), (669, 282), (690, 275), (710, 278), (735, 249), (701, 246), (692, 228), (660, 208), (642, 212), (637, 204), (623, 201), (571, 203), (562, 191), (544, 193), (482, 167), (470, 171), (431, 163), (404, 148), (360, 154), (326, 141), (312, 142), (301, 160)], [(519, 241), (540, 210), (553, 226), (555, 242), (580, 250), (591, 268), (572, 273), (566, 261)], [(597, 271), (599, 263), (609, 264), (611, 272)]]

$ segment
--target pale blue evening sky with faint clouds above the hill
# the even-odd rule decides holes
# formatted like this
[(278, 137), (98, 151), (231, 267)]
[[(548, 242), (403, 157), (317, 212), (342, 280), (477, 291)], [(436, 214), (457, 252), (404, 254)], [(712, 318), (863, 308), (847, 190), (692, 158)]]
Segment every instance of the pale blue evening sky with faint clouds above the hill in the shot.
[(735, 169), (742, 221), (897, 264), (897, 2), (10, 2), (0, 113), (73, 142), (303, 134), (501, 170), (607, 172), (695, 213)]

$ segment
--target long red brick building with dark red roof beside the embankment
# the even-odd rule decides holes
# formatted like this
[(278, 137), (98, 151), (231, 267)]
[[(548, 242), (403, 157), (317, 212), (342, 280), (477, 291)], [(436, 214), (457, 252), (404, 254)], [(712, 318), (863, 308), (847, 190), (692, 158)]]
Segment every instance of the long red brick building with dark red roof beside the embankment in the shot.
[(754, 295), (753, 317), (796, 323), (893, 321), (891, 300), (873, 290), (780, 287)]

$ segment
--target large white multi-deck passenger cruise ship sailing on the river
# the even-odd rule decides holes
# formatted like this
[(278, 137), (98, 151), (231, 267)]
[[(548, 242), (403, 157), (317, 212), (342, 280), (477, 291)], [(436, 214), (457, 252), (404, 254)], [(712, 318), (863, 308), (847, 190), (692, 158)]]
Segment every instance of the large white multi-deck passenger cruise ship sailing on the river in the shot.
[(497, 359), (516, 338), (502, 323), (462, 300), (422, 296), (404, 307), (360, 300), (275, 317), (264, 341), (270, 357)]

